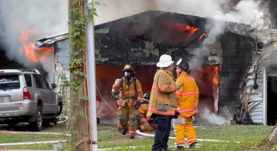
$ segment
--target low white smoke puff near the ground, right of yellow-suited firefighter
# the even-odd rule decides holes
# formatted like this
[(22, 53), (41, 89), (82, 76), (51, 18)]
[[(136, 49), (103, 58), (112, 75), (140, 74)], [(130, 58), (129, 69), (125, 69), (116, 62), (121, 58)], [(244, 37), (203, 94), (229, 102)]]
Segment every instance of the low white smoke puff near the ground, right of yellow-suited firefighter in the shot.
[(214, 114), (206, 107), (204, 107), (204, 109), (202, 109), (199, 114), (201, 118), (206, 119), (209, 123), (213, 125), (222, 125), (226, 121), (226, 118)]

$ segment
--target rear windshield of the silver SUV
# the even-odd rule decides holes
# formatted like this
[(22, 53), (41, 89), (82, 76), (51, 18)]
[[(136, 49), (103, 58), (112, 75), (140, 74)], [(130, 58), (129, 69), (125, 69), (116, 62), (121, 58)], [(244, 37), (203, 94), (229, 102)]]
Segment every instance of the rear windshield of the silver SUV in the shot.
[(18, 75), (0, 75), (0, 89), (20, 89)]

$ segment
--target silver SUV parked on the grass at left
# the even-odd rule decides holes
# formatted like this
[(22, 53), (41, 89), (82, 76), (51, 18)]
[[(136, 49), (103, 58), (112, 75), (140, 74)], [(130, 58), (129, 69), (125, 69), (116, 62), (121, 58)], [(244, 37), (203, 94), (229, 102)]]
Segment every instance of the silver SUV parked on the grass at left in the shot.
[(33, 70), (0, 69), (0, 124), (29, 123), (31, 131), (40, 131), (55, 122), (64, 101), (52, 89)]

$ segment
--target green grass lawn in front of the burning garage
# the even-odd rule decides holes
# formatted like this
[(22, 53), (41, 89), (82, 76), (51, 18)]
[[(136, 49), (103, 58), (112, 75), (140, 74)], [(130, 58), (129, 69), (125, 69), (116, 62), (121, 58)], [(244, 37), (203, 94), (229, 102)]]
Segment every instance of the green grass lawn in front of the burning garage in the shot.
[[(13, 127), (0, 125), (0, 130), (26, 131), (26, 125), (20, 124)], [(24, 129), (25, 127), (25, 129)], [(226, 142), (198, 141), (198, 148), (192, 150), (248, 150), (247, 147), (255, 146), (261, 143), (267, 134), (271, 131), (272, 126), (261, 125), (204, 125), (195, 127), (198, 139), (217, 139)], [(42, 130), (42, 132), (61, 132), (65, 133), (66, 125), (51, 125)], [(148, 132), (154, 134), (154, 132)], [(174, 136), (171, 132), (170, 136)], [(54, 134), (4, 134), (0, 132), (0, 143), (15, 143), (27, 141), (56, 141), (70, 139), (70, 136)], [(235, 142), (240, 143), (235, 143)], [(115, 148), (114, 150), (151, 150), (154, 142), (153, 137), (142, 137), (136, 135), (135, 139), (128, 139), (128, 135), (123, 136), (116, 131), (116, 125), (98, 125), (98, 148)], [(3, 149), (22, 149), (22, 150), (53, 150), (53, 143), (37, 145), (16, 145), (0, 146)], [(69, 146), (69, 143), (62, 143)], [(174, 140), (168, 142), (170, 150), (173, 150)], [(124, 146), (124, 147), (123, 147)], [(136, 146), (130, 149), (129, 147)], [(118, 148), (123, 147), (123, 148)], [(117, 148), (117, 149), (116, 149)], [(265, 150), (265, 149), (263, 149)]]

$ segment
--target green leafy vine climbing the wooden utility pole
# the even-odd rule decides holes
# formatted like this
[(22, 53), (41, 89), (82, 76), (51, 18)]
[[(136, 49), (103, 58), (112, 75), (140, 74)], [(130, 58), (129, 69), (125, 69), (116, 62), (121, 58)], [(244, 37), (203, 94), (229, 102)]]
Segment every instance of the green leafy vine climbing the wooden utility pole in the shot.
[[(88, 15), (83, 15), (83, 10), (82, 5), (84, 3), (84, 6), (88, 8)], [(71, 66), (74, 64), (80, 64), (81, 62), (84, 63), (84, 60), (80, 60), (81, 55), (83, 55), (83, 52), (86, 51), (86, 45), (85, 45), (85, 33), (87, 32), (86, 24), (91, 21), (93, 22), (93, 16), (98, 17), (98, 14), (96, 12), (95, 6), (100, 6), (101, 4), (98, 1), (94, 1), (93, 3), (85, 3), (84, 0), (75, 0), (74, 4), (76, 6), (79, 6), (78, 8), (71, 8), (71, 12), (74, 12), (78, 18), (73, 21), (73, 24), (75, 25), (74, 27), (70, 28), (69, 30), (71, 31), (71, 35), (69, 35), (70, 38), (74, 38), (74, 42), (71, 43), (71, 46), (75, 46), (77, 48), (77, 51), (70, 52), (71, 55), (73, 56), (73, 62), (70, 62)], [(102, 6), (106, 6), (105, 3), (102, 3)], [(75, 91), (80, 89), (80, 81), (78, 81), (79, 78), (77, 77), (84, 77), (87, 78), (86, 73), (83, 71), (75, 70), (73, 71), (73, 76), (74, 79), (67, 79), (63, 78), (64, 81), (62, 85), (71, 85), (71, 90), (69, 90), (69, 93), (72, 95), (77, 95)], [(88, 96), (82, 96), (80, 97), (81, 100), (89, 100)], [(77, 107), (79, 106), (78, 100), (73, 100), (71, 102), (71, 107)], [(70, 106), (66, 106), (70, 107)], [(65, 107), (65, 108), (66, 108)], [(64, 115), (60, 115), (60, 117), (63, 117)], [(75, 116), (86, 116), (84, 112), (80, 112), (78, 110), (74, 111), (74, 114), (71, 116), (71, 121), (67, 123), (69, 127), (72, 127), (71, 125), (73, 124), (73, 121), (75, 120)], [(72, 130), (71, 131), (73, 134), (77, 134), (77, 130)], [(71, 138), (73, 140), (73, 138)], [(73, 145), (77, 145), (77, 142), (73, 142)], [(70, 145), (66, 146), (65, 150), (74, 150)]]

